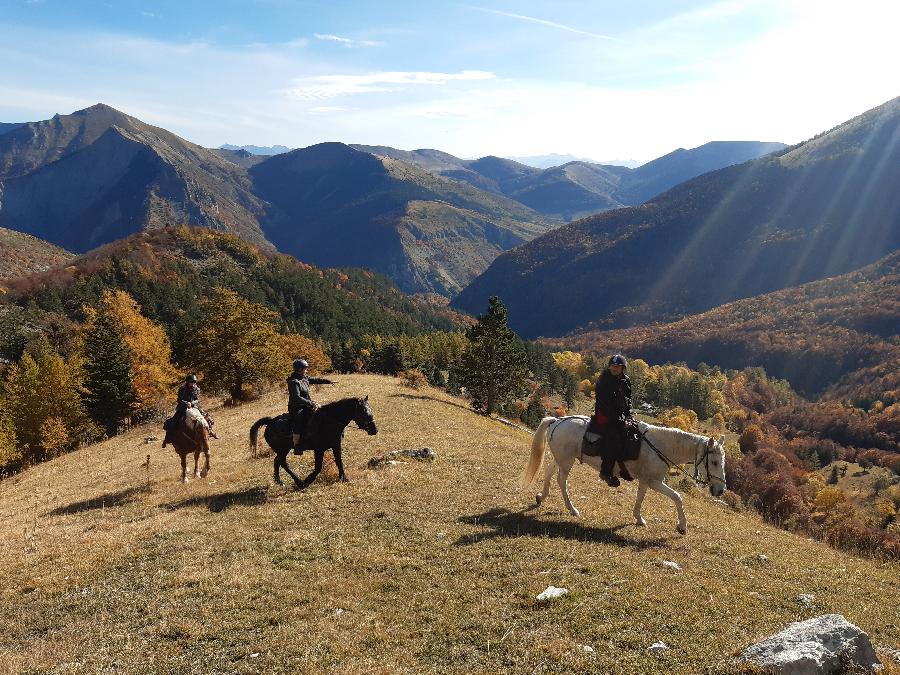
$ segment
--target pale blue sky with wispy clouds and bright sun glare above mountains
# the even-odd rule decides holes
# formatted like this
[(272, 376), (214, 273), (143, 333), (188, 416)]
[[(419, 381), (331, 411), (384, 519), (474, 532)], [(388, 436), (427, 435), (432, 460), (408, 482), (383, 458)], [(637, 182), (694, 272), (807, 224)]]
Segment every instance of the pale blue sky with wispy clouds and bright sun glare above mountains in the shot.
[(900, 95), (886, 0), (0, 0), (0, 121), (107, 103), (205, 145), (649, 160)]

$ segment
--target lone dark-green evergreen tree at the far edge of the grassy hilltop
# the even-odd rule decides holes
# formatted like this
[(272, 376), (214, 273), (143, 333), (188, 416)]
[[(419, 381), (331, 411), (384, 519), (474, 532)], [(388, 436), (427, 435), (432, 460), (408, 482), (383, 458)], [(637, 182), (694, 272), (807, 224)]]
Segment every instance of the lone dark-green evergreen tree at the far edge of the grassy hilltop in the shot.
[(490, 299), (488, 311), (466, 330), (469, 344), (462, 355), (459, 383), (472, 397), (475, 409), (486, 414), (525, 394), (528, 368), (525, 350), (507, 326), (506, 307)]

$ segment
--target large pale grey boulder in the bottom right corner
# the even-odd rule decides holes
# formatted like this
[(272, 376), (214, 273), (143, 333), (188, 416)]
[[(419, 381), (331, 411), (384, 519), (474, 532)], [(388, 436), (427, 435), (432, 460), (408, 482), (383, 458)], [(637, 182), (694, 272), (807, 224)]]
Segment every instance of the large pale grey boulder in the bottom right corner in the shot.
[(816, 675), (837, 672), (842, 654), (857, 666), (881, 669), (869, 636), (840, 614), (792, 623), (745, 649), (740, 660), (778, 675)]

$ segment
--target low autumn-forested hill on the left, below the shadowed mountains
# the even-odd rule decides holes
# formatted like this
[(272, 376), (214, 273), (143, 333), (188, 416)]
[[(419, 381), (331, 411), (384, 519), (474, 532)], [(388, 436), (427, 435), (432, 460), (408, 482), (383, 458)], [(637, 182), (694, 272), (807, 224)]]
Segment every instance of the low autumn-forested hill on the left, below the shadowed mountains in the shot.
[(83, 321), (84, 306), (97, 306), (110, 289), (127, 291), (166, 328), (176, 357), (191, 340), (201, 299), (219, 287), (274, 310), (287, 330), (329, 341), (452, 330), (465, 322), (445, 304), (405, 295), (377, 274), (322, 270), (234, 235), (184, 226), (133, 235), (5, 286), (0, 310), (15, 324), (0, 331), (6, 358), (18, 357), (28, 332), (65, 331), (67, 321)]

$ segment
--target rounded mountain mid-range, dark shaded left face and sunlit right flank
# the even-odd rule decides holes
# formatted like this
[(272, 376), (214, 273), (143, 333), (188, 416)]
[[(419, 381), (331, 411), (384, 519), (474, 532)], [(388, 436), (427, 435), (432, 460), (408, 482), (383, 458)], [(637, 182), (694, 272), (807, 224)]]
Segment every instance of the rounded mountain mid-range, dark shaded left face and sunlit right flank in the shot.
[(499, 253), (552, 226), (503, 195), (342, 143), (276, 155), (250, 174), (280, 251), (368, 267), (405, 291), (452, 295)]

